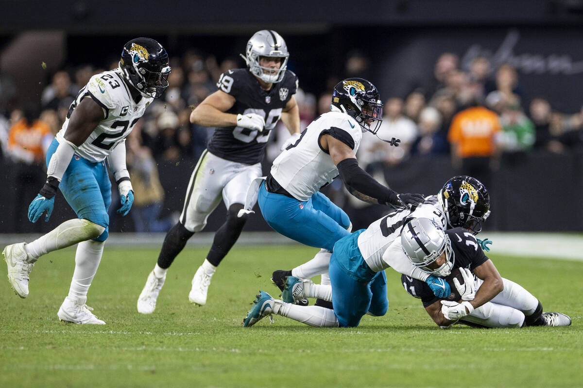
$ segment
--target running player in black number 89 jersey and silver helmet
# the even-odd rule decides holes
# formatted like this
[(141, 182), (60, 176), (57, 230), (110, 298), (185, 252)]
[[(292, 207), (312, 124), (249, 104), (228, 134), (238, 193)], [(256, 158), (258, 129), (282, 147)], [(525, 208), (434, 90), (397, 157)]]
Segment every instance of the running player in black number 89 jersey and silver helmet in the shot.
[[(294, 94), (296, 74), (287, 70), (286, 42), (273, 30), (261, 30), (247, 42), (247, 62), (220, 76), (219, 90), (192, 111), (192, 123), (216, 127), (207, 149), (190, 178), (178, 223), (166, 234), (157, 264), (138, 299), (138, 312), (150, 314), (164, 284), (166, 271), (187, 240), (206, 225), (209, 214), (221, 199), (227, 220), (217, 230), (212, 247), (192, 279), (189, 301), (206, 304), (210, 279), (216, 267), (237, 241), (247, 215), (243, 209), (251, 181), (262, 175), (261, 159), (271, 130), (279, 119), (292, 136), (300, 136), (300, 116)], [(254, 201), (257, 201), (255, 198)]]

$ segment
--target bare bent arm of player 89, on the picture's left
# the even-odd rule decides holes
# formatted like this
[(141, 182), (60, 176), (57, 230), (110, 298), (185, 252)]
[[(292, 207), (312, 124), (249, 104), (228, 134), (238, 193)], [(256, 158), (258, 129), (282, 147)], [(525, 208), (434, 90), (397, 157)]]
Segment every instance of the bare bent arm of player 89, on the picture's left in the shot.
[(235, 104), (235, 101), (232, 95), (217, 90), (194, 108), (190, 113), (190, 122), (203, 127), (236, 126), (237, 115), (225, 113)]

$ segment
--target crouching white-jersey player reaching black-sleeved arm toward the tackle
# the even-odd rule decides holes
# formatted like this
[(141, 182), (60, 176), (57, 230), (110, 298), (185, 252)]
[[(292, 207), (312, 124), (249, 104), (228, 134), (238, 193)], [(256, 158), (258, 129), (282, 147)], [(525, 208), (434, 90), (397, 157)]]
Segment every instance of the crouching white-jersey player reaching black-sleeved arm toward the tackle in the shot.
[[(356, 161), (363, 133), (377, 133), (382, 103), (377, 88), (367, 80), (349, 78), (333, 90), (331, 112), (315, 119), (295, 144), (273, 161), (259, 187), (261, 213), (274, 230), (311, 247), (322, 248), (291, 273), (276, 271), (272, 280), (282, 286), (285, 276), (309, 278), (328, 269), (336, 241), (350, 234), (350, 219), (320, 188), (340, 176), (357, 198), (395, 208), (423, 202), (421, 194), (397, 194), (359, 167)], [(398, 145), (395, 139), (391, 144)], [(322, 280), (328, 283), (326, 277)]]

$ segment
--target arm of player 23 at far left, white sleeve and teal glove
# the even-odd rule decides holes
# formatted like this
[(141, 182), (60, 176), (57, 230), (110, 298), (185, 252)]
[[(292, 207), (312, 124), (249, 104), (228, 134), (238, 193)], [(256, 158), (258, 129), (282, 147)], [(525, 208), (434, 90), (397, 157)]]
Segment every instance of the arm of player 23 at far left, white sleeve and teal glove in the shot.
[(45, 212), (45, 221), (51, 218), (52, 208), (55, 204), (55, 194), (57, 194), (59, 183), (75, 153), (75, 147), (87, 140), (87, 137), (104, 116), (103, 108), (91, 98), (83, 98), (79, 105), (73, 109), (65, 132), (65, 141), (59, 143), (57, 151), (55, 151), (51, 161), (48, 163), (47, 181), (29, 205), (28, 217), (30, 222), (37, 222)]

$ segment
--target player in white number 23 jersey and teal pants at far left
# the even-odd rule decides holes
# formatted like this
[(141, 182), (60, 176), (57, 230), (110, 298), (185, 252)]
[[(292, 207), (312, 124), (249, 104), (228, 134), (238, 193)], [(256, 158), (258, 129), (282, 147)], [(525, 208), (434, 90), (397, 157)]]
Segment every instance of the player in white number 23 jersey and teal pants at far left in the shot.
[[(87, 307), (87, 291), (107, 239), (113, 172), (121, 197), (117, 210), (127, 215), (134, 191), (125, 165), (125, 138), (147, 105), (168, 87), (166, 50), (155, 40), (136, 38), (122, 50), (120, 67), (96, 74), (71, 104), (67, 118), (47, 151), (47, 182), (31, 202), (29, 219), (51, 216), (57, 190), (78, 218), (65, 221), (31, 243), (3, 250), (8, 278), (21, 298), (29, 295), (29, 273), (42, 255), (78, 244), (69, 294), (58, 311), (61, 321), (104, 325)], [(106, 167), (107, 163), (107, 167)]]

